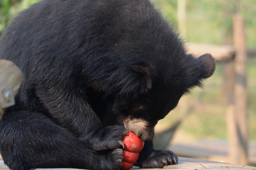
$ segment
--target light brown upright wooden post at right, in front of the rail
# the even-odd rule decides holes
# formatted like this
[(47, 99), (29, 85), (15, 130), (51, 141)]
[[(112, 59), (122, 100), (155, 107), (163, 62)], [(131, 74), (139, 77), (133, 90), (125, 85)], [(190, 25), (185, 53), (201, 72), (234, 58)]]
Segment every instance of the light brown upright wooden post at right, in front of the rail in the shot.
[(233, 18), (233, 42), (236, 49), (234, 71), (234, 107), (230, 115), (229, 156), (231, 163), (248, 163), (247, 132), (247, 88), (246, 88), (246, 38), (244, 19), (240, 15)]

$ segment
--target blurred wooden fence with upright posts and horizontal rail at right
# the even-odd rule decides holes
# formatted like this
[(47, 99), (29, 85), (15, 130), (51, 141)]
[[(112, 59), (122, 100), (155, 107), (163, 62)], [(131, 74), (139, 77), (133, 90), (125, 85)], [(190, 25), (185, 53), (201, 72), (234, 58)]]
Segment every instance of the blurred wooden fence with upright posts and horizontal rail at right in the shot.
[(224, 62), (225, 93), (228, 101), (227, 129), (230, 163), (248, 162), (247, 123), (247, 57), (256, 56), (256, 49), (246, 48), (245, 23), (241, 15), (233, 17), (233, 45), (189, 44), (190, 53), (210, 53), (217, 62)]

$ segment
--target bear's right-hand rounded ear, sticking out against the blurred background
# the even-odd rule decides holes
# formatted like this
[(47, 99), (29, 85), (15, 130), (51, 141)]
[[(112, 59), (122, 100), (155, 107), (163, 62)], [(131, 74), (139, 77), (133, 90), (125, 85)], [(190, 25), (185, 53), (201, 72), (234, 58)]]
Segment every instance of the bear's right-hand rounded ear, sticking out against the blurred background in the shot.
[(209, 78), (212, 74), (214, 74), (216, 61), (210, 54), (204, 54), (200, 56), (199, 58), (197, 58), (197, 62), (201, 68), (201, 79)]

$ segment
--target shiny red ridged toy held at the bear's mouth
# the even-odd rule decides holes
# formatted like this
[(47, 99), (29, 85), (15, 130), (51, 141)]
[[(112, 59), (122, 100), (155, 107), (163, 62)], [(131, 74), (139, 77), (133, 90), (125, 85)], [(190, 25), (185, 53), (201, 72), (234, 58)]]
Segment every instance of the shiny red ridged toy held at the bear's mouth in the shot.
[(139, 153), (144, 147), (144, 141), (138, 138), (134, 133), (129, 132), (129, 136), (123, 138), (123, 161), (122, 170), (128, 170), (139, 159)]

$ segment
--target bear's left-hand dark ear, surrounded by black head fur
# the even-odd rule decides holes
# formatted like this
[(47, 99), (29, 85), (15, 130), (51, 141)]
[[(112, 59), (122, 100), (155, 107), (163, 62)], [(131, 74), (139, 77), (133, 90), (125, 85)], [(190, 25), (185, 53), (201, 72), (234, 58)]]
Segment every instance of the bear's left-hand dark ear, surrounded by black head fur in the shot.
[(152, 67), (146, 67), (141, 65), (132, 66), (133, 71), (139, 74), (143, 79), (143, 84), (148, 89), (152, 89), (152, 75), (154, 73), (154, 69)]

